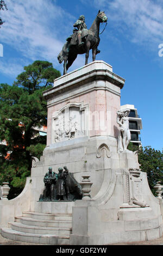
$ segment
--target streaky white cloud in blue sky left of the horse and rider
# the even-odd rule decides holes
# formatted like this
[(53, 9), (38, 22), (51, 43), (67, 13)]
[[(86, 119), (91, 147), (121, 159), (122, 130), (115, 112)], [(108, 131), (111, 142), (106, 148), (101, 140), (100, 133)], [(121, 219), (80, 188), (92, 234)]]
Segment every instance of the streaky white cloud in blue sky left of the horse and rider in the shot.
[[(18, 56), (14, 63), (12, 58), (7, 62), (3, 59), (4, 66), (2, 67), (1, 62), (1, 72), (5, 74), (5, 67), (15, 65), (16, 61), (20, 66), (19, 57), (27, 59), (27, 62), (46, 59), (52, 62), (55, 68), (60, 67), (57, 56), (67, 36), (72, 33), (72, 24), (76, 18), (66, 13), (52, 0), (5, 2), (8, 10), (1, 14), (5, 23), (1, 27), (0, 43), (9, 46), (14, 52), (16, 49)], [(13, 66), (10, 74), (14, 75), (14, 70)]]

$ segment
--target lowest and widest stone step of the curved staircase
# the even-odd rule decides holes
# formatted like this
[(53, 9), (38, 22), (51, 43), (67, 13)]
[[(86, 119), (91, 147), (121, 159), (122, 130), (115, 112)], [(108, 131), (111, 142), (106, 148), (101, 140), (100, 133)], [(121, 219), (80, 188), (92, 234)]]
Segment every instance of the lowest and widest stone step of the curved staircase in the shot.
[(69, 237), (67, 235), (43, 235), (24, 233), (21, 231), (12, 230), (11, 228), (1, 228), (3, 237), (15, 241), (41, 243), (44, 245), (69, 245)]

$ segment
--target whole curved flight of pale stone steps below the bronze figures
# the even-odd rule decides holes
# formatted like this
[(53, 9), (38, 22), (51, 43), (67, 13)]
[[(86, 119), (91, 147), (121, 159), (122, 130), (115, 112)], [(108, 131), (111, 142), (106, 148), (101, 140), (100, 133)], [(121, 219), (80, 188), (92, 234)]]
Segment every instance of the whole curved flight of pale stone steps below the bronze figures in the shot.
[(1, 228), (8, 239), (45, 245), (69, 245), (71, 233), (72, 214), (23, 212), (8, 228)]

